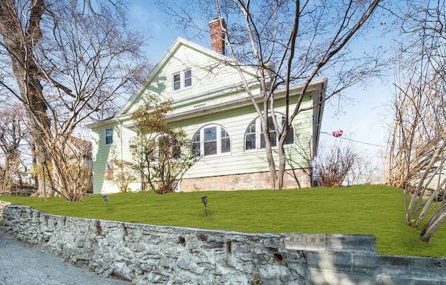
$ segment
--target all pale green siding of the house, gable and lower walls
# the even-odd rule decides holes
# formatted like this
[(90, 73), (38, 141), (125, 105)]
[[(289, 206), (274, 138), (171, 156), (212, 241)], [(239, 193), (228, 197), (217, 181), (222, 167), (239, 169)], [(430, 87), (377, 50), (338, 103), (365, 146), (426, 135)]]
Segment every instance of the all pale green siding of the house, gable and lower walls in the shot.
[[(187, 69), (192, 70), (192, 86), (174, 90), (173, 75)], [(254, 78), (253, 74), (248, 72), (245, 72), (245, 75), (247, 80)], [(182, 115), (178, 116), (171, 124), (173, 127), (183, 128), (190, 139), (199, 129), (209, 124), (219, 124), (229, 133), (231, 152), (203, 156), (186, 172), (184, 178), (268, 171), (265, 149), (245, 150), (245, 131), (258, 116), (254, 106), (251, 104), (237, 105), (236, 108), (210, 112), (212, 106), (247, 99), (245, 90), (240, 88), (241, 82), (236, 68), (226, 65), (222, 58), (213, 54), (212, 51), (206, 51), (206, 49), (200, 49), (193, 44), (180, 41), (179, 44), (174, 45), (174, 49), (168, 56), (163, 58), (162, 65), (157, 67), (156, 73), (144, 88), (142, 94), (154, 94), (164, 99), (174, 99), (173, 115)], [(145, 104), (145, 100), (144, 95), (136, 97), (126, 108), (125, 114), (130, 115), (139, 105)], [(284, 100), (276, 100), (276, 103), (276, 112), (284, 113)], [(312, 101), (308, 96), (303, 102), (303, 107), (311, 106)], [(195, 113), (194, 117), (190, 115), (188, 118), (184, 115), (197, 110), (201, 112), (200, 115)], [(302, 112), (293, 122), (295, 143), (286, 147), (287, 169), (310, 166), (312, 113), (311, 110)], [(111, 181), (105, 181), (107, 162), (113, 159), (132, 161), (129, 140), (136, 136), (136, 133), (132, 129), (124, 127), (132, 125), (125, 114), (121, 114), (119, 120), (110, 120), (111, 123), (108, 125), (104, 122), (100, 127), (93, 129), (95, 132), (93, 193), (118, 191)], [(110, 127), (114, 128), (114, 142), (113, 145), (107, 146), (105, 145), (105, 129)], [(130, 187), (133, 190), (138, 190), (139, 186), (139, 183), (134, 183)]]

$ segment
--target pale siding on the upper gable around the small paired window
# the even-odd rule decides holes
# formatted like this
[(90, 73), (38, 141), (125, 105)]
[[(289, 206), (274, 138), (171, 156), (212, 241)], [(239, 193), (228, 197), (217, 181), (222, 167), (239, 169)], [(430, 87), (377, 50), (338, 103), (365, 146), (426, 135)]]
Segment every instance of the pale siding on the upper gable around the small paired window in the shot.
[[(187, 69), (192, 70), (192, 86), (174, 90), (174, 74)], [(244, 74), (247, 80), (253, 79), (252, 75), (246, 72)], [(240, 88), (236, 89), (240, 84), (240, 75), (236, 67), (231, 67), (221, 60), (203, 54), (202, 51), (192, 49), (185, 44), (180, 44), (146, 86), (143, 94), (153, 93), (164, 99), (173, 98), (176, 109), (174, 113), (181, 113), (193, 110), (194, 106), (202, 104), (203, 101), (206, 101), (206, 107), (208, 107), (245, 97), (245, 94), (236, 92), (240, 90)], [(217, 98), (210, 101), (209, 99), (213, 97)], [(144, 104), (144, 96), (134, 101), (128, 113), (135, 111), (140, 104)]]

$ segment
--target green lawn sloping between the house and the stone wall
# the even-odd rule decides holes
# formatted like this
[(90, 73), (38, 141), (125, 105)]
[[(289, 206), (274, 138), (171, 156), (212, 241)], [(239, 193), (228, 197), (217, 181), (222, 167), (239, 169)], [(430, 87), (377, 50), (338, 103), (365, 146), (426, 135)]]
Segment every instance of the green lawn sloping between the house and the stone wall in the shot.
[[(201, 196), (208, 196), (208, 217)], [(39, 211), (153, 225), (176, 225), (248, 233), (288, 232), (373, 234), (380, 254), (446, 257), (446, 227), (429, 243), (404, 222), (401, 190), (388, 186), (251, 190), (226, 192), (153, 192), (101, 195), (68, 203), (61, 198), (1, 197)]]

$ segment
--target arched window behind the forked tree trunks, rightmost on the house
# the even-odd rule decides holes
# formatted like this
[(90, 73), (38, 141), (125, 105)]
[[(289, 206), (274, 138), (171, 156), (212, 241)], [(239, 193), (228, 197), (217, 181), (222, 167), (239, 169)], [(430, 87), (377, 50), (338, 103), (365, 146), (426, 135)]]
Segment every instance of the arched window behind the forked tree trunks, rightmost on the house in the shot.
[[(285, 116), (276, 114), (277, 125), (283, 127), (285, 124)], [(277, 147), (279, 142), (272, 117), (268, 116), (268, 131), (270, 133), (270, 142), (272, 147)], [(284, 140), (284, 145), (291, 145), (294, 142), (294, 129), (290, 127), (288, 134)], [(265, 135), (262, 133), (262, 125), (260, 117), (256, 117), (246, 129), (245, 133), (245, 149), (264, 149), (266, 147)]]

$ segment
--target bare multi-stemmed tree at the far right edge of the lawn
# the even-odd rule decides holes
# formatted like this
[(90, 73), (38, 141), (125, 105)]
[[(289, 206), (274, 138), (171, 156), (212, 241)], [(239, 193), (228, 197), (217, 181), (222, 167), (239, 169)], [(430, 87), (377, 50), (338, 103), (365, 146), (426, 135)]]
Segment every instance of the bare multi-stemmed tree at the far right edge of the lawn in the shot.
[(417, 5), (402, 18), (386, 182), (404, 188), (406, 222), (427, 242), (446, 220), (446, 202), (436, 202), (446, 188), (446, 13), (445, 1)]

